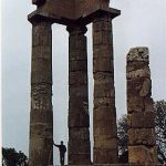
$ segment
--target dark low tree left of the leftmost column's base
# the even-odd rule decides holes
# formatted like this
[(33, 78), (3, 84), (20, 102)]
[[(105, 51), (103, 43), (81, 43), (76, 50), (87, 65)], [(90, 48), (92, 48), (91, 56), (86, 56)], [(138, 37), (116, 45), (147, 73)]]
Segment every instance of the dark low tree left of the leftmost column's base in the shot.
[(28, 158), (21, 151), (18, 153), (14, 148), (2, 147), (2, 165), (28, 166)]

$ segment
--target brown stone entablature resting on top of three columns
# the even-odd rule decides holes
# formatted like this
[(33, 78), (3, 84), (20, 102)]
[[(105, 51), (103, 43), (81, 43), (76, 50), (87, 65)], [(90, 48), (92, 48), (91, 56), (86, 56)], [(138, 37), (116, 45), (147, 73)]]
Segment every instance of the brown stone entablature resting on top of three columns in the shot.
[(38, 8), (29, 14), (30, 21), (43, 18), (64, 25), (75, 21), (91, 23), (101, 12), (110, 13), (112, 19), (121, 13), (117, 9), (108, 8), (108, 0), (33, 0), (32, 2)]

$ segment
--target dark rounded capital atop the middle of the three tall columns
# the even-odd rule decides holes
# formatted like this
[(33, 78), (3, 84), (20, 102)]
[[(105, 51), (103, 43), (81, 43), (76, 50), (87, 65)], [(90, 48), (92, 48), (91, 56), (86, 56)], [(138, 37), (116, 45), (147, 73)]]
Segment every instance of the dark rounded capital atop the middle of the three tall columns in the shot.
[(77, 33), (83, 33), (85, 34), (87, 31), (87, 28), (85, 24), (70, 24), (66, 27), (66, 31), (71, 34), (77, 34)]

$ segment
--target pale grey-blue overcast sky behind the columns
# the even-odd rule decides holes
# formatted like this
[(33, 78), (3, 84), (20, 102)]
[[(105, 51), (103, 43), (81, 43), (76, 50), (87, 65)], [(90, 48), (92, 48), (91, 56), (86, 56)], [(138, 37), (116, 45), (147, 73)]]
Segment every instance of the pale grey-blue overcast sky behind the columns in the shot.
[[(154, 100), (166, 100), (166, 0), (112, 0), (117, 116), (126, 113), (126, 54), (149, 48)], [(2, 144), (28, 155), (30, 113), (31, 0), (2, 0)], [(68, 143), (68, 32), (53, 24), (54, 141)], [(90, 114), (93, 111), (92, 29), (89, 25)], [(61, 126), (61, 127), (60, 127)], [(92, 121), (91, 121), (92, 126)], [(54, 149), (56, 153), (58, 151)], [(58, 160), (56, 160), (58, 164)]]

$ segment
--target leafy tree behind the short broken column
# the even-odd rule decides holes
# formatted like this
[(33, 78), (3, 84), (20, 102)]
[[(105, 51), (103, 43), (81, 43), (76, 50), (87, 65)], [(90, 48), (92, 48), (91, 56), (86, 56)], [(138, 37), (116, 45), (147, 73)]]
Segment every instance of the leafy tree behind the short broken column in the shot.
[[(155, 102), (154, 108), (158, 160), (160, 164), (166, 164), (166, 102)], [(127, 163), (127, 115), (123, 115), (117, 122), (117, 138), (120, 162)]]

